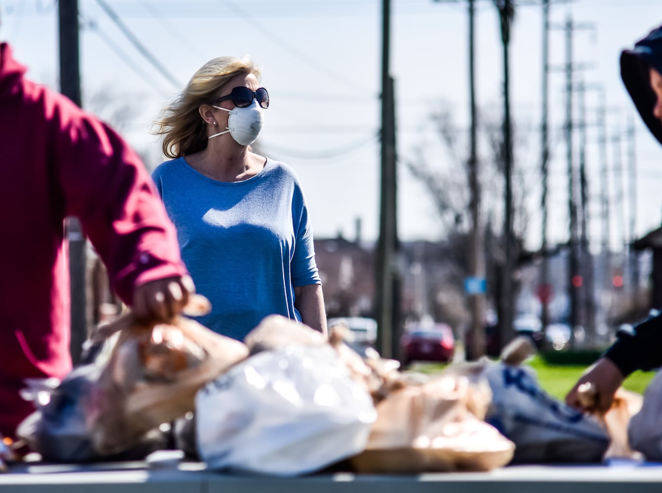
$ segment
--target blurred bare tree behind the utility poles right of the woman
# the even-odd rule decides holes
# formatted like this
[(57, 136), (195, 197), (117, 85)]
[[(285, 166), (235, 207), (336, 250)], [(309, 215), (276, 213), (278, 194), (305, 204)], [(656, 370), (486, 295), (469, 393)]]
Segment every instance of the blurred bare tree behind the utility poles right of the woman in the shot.
[[(498, 276), (500, 266), (504, 262), (504, 245), (501, 227), (495, 224), (503, 223), (503, 135), (498, 116), (481, 115), (479, 119), (479, 138), (483, 141), (481, 148), (487, 149), (481, 157), (481, 217), (486, 217), (485, 230), (490, 239), (485, 245), (487, 260), (488, 297), (496, 306), (498, 299)], [(448, 102), (442, 102), (440, 108), (431, 116), (436, 133), (439, 137), (435, 143), (417, 145), (410, 157), (403, 159), (404, 166), (414, 176), (432, 199), (436, 212), (442, 221), (446, 236), (443, 247), (446, 260), (452, 262), (455, 274), (448, 272), (446, 283), (452, 285), (455, 293), (463, 293), (463, 278), (469, 275), (469, 228), (471, 217), (469, 209), (469, 167), (463, 151), (467, 148), (468, 130), (459, 128), (453, 120), (453, 111)], [(524, 127), (526, 130), (526, 126)], [(530, 176), (536, 169), (536, 157), (531, 152), (526, 132), (514, 132), (515, 159), (514, 177), (514, 234), (518, 251), (524, 248), (524, 238), (528, 227), (530, 210), (528, 196), (531, 194), (531, 184), (536, 182)], [(528, 166), (527, 164), (530, 164)], [(448, 298), (448, 293), (446, 295)], [(463, 297), (453, 297), (463, 299)]]

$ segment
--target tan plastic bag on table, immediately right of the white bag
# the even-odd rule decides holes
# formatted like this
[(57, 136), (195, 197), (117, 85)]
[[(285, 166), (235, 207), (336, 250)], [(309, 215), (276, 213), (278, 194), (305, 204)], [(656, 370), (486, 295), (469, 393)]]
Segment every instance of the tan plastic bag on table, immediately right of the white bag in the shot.
[(470, 383), (458, 375), (393, 391), (377, 404), (377, 422), (352, 465), (359, 473), (502, 467), (515, 446), (483, 421), (490, 398), (487, 383)]

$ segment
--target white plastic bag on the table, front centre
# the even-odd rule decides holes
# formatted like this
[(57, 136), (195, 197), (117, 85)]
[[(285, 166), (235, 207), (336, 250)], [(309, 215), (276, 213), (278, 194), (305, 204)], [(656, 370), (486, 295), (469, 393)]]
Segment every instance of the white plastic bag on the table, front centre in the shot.
[(195, 407), (209, 468), (282, 476), (359, 453), (377, 419), (333, 348), (301, 344), (235, 365), (197, 393)]

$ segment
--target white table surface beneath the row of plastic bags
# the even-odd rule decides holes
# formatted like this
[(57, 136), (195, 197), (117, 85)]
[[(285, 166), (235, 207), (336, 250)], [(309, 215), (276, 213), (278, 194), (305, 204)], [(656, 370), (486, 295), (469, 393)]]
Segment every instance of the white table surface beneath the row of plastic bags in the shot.
[(314, 474), (299, 478), (207, 471), (202, 463), (20, 465), (0, 474), (0, 493), (662, 493), (662, 464), (512, 466), (489, 473)]

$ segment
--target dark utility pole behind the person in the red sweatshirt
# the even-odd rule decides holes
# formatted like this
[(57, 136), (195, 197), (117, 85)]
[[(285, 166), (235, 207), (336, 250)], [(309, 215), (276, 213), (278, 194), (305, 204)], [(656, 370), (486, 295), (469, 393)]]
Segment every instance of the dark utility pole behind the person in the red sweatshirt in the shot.
[[(58, 2), (60, 29), (60, 92), (81, 106), (79, 30), (77, 0)], [(66, 220), (69, 242), (69, 273), (71, 283), (71, 360), (80, 362), (83, 342), (87, 338), (87, 310), (85, 289), (85, 235), (75, 217)]]

